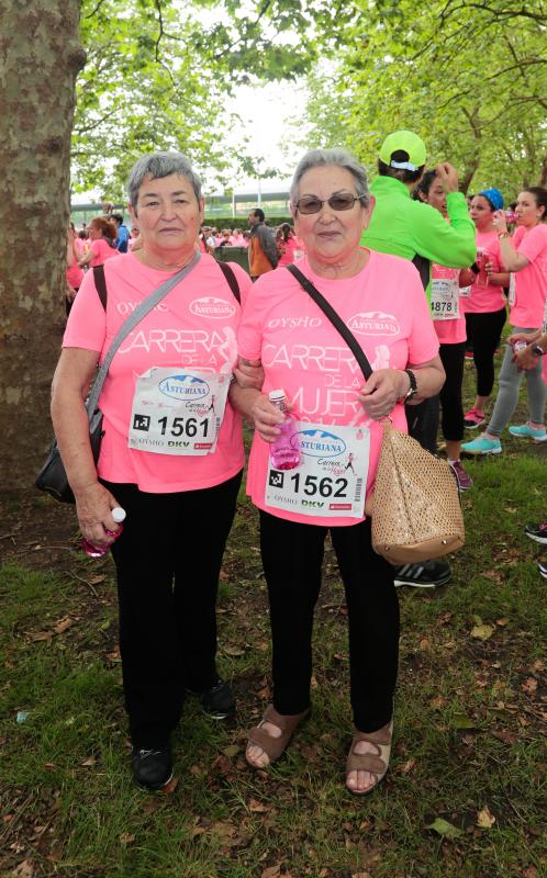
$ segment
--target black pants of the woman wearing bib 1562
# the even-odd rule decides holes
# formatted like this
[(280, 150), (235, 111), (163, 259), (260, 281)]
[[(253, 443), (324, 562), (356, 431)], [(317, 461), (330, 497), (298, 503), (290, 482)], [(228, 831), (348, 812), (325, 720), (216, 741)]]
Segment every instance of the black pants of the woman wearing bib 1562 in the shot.
[[(270, 599), (274, 706), (310, 706), (313, 610), (321, 589), (327, 528), (260, 511), (260, 547)], [(399, 601), (393, 567), (372, 551), (370, 521), (331, 528), (346, 592), (354, 722), (373, 732), (390, 721), (399, 663)]]

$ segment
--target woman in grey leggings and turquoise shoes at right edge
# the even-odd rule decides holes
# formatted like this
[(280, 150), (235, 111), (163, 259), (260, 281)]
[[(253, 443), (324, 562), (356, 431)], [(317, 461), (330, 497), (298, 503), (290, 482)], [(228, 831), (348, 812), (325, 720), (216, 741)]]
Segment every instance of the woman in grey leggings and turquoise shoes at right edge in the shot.
[[(512, 336), (535, 335), (540, 329), (547, 300), (547, 189), (532, 187), (521, 192), (516, 200), (516, 230), (511, 238), (505, 215), (495, 214), (494, 228), (500, 240), (504, 267), (513, 273), (510, 286), (510, 319)], [(547, 441), (545, 430), (546, 385), (542, 378), (542, 361), (526, 371), (528, 391), (528, 420), (509, 428), (512, 436)], [(461, 448), (468, 454), (500, 454), (500, 436), (518, 403), (518, 390), (524, 373), (514, 360), (510, 344), (500, 371), (500, 386), (490, 424), (478, 439)]]

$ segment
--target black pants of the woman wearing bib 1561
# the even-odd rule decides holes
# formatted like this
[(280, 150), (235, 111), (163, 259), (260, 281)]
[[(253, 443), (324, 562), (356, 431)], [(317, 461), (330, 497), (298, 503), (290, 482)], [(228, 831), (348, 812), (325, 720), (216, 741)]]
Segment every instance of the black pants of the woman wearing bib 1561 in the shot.
[(238, 473), (176, 494), (103, 483), (127, 513), (112, 555), (125, 707), (138, 746), (165, 745), (185, 688), (214, 680), (219, 574), (241, 481)]

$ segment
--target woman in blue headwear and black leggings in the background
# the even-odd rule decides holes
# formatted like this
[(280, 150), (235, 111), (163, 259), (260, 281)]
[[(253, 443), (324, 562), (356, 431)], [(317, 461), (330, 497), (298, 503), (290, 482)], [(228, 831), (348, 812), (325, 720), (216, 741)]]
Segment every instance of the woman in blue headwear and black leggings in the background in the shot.
[(503, 270), (494, 228), (495, 211), (502, 207), (503, 195), (493, 187), (479, 192), (471, 202), (471, 219), (477, 228), (477, 261), (470, 295), (461, 302), (467, 340), (471, 342), (477, 369), (477, 395), (464, 418), (468, 429), (484, 424), (484, 410), (494, 386), (494, 353), (506, 319), (503, 288), (509, 286), (510, 275)]

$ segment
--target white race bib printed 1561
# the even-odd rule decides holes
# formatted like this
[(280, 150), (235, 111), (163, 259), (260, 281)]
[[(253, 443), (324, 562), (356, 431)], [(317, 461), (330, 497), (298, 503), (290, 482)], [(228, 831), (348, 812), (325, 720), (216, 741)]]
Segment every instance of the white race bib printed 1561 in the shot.
[(226, 407), (231, 375), (153, 367), (138, 376), (127, 444), (155, 454), (210, 454)]

